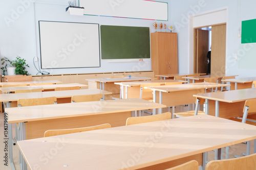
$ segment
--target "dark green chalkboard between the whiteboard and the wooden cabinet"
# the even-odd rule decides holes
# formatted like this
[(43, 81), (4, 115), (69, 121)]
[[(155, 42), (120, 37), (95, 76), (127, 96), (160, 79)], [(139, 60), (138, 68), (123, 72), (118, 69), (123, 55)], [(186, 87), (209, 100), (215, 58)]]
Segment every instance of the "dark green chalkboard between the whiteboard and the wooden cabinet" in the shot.
[(102, 59), (150, 58), (150, 28), (100, 26)]

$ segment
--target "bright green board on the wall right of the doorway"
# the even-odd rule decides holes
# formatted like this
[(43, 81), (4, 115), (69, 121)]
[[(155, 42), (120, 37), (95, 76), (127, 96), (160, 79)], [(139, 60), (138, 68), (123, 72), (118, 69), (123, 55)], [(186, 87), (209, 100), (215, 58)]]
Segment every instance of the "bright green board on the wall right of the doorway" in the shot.
[(242, 43), (256, 42), (256, 19), (242, 21)]

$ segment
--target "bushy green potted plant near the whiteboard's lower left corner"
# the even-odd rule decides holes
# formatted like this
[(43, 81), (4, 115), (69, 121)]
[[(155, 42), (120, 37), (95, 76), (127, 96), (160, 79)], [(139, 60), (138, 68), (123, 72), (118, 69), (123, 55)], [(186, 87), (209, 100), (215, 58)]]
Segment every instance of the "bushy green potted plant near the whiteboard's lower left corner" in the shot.
[(17, 56), (14, 61), (11, 62), (13, 66), (15, 66), (15, 74), (16, 75), (29, 75), (26, 67), (29, 65), (26, 63), (26, 60)]

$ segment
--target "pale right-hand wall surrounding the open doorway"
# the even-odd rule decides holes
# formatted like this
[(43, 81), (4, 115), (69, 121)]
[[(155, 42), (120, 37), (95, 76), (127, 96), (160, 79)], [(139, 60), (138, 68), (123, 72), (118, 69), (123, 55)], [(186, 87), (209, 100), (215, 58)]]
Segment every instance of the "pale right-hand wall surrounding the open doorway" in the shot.
[[(193, 53), (189, 48), (191, 28), (189, 16), (227, 8), (227, 57), (226, 74), (256, 76), (256, 44), (241, 44), (241, 20), (256, 18), (255, 0), (171, 0), (171, 22), (179, 35), (179, 68), (182, 72), (193, 71)], [(190, 62), (189, 62), (190, 61)]]

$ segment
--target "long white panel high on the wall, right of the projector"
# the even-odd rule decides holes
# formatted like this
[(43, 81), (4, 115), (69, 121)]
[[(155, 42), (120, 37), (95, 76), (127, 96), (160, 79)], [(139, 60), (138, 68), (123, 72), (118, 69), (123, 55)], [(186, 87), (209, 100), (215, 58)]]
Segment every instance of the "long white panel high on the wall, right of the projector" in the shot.
[(145, 0), (79, 0), (85, 15), (168, 20), (168, 3)]

